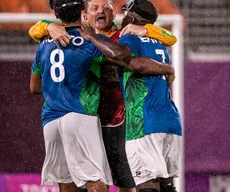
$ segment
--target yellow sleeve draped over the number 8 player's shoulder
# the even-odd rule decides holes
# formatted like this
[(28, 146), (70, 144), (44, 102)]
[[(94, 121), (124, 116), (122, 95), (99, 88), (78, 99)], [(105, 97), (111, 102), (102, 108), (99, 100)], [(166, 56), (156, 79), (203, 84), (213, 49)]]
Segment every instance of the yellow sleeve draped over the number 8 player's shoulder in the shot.
[(48, 21), (48, 20), (38, 21), (35, 25), (33, 25), (30, 28), (30, 30), (29, 30), (30, 37), (34, 41), (39, 43), (43, 37), (49, 35), (49, 33), (47, 31), (47, 26), (50, 23), (52, 23), (52, 22)]

